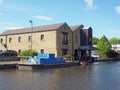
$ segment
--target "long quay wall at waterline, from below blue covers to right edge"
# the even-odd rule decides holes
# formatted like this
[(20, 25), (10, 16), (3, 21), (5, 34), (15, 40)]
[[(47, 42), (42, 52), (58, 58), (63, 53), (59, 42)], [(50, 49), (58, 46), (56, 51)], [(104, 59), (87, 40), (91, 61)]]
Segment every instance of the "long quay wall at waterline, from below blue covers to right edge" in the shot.
[[(110, 61), (120, 61), (120, 59), (115, 58), (107, 58), (101, 60), (94, 60), (94, 62), (110, 62)], [(94, 63), (91, 62), (91, 63)], [(87, 62), (86, 62), (87, 63)], [(79, 66), (79, 65), (90, 65), (88, 64), (81, 64), (79, 61), (71, 61), (71, 62), (64, 62), (59, 64), (28, 64), (28, 63), (18, 63), (18, 70), (40, 70), (40, 69), (50, 69), (50, 68), (64, 68), (64, 67), (72, 67), (72, 66)]]

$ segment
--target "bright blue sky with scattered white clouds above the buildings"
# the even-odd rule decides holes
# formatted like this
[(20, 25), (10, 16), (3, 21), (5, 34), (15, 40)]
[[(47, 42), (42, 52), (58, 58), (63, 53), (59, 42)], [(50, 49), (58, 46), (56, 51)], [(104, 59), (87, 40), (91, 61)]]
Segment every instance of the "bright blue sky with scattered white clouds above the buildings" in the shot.
[(0, 33), (66, 22), (92, 27), (93, 36), (120, 38), (120, 0), (0, 0)]

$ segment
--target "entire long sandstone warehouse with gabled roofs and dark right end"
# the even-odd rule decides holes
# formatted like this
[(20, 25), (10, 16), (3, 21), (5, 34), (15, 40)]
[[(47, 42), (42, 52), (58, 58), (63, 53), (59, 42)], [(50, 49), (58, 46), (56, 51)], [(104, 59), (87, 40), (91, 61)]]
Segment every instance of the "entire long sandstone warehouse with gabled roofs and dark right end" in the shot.
[[(32, 37), (31, 37), (32, 33)], [(67, 23), (8, 30), (0, 34), (0, 49), (20, 52), (32, 49), (37, 52), (55, 53), (56, 57), (68, 55), (79, 59), (92, 49), (92, 28), (68, 26)], [(89, 53), (88, 53), (89, 54)]]

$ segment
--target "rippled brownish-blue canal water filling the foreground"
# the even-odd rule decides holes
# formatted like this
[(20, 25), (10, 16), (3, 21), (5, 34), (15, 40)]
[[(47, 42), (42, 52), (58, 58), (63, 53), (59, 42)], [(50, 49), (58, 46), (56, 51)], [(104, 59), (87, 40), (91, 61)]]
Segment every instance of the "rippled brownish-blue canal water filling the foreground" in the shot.
[(0, 90), (120, 90), (120, 62), (36, 71), (0, 70)]

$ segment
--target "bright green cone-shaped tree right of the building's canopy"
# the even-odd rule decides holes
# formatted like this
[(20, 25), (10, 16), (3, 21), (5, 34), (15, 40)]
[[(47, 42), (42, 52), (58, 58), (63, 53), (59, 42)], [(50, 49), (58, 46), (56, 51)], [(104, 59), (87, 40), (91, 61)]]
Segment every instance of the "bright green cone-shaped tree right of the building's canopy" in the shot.
[(100, 38), (97, 43), (97, 48), (99, 56), (104, 58), (110, 57), (109, 52), (111, 51), (111, 44), (105, 35)]

